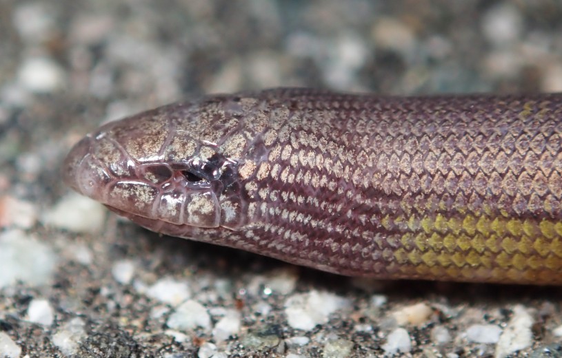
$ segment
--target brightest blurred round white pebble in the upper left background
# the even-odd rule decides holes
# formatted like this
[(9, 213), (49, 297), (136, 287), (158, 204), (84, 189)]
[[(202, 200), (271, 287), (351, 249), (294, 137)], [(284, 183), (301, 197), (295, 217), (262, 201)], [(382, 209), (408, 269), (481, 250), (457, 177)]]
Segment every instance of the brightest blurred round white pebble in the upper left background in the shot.
[(48, 57), (26, 59), (19, 67), (18, 82), (31, 92), (48, 93), (63, 87), (64, 72)]

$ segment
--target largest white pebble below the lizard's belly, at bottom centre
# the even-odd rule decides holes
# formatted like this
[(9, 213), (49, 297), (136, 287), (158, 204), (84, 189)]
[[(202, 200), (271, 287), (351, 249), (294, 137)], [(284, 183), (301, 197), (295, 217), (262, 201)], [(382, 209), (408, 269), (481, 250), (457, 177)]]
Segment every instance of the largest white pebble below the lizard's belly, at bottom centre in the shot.
[(312, 330), (317, 324), (328, 322), (328, 316), (349, 306), (348, 299), (332, 293), (310, 291), (293, 295), (285, 302), (285, 315), (292, 328)]

